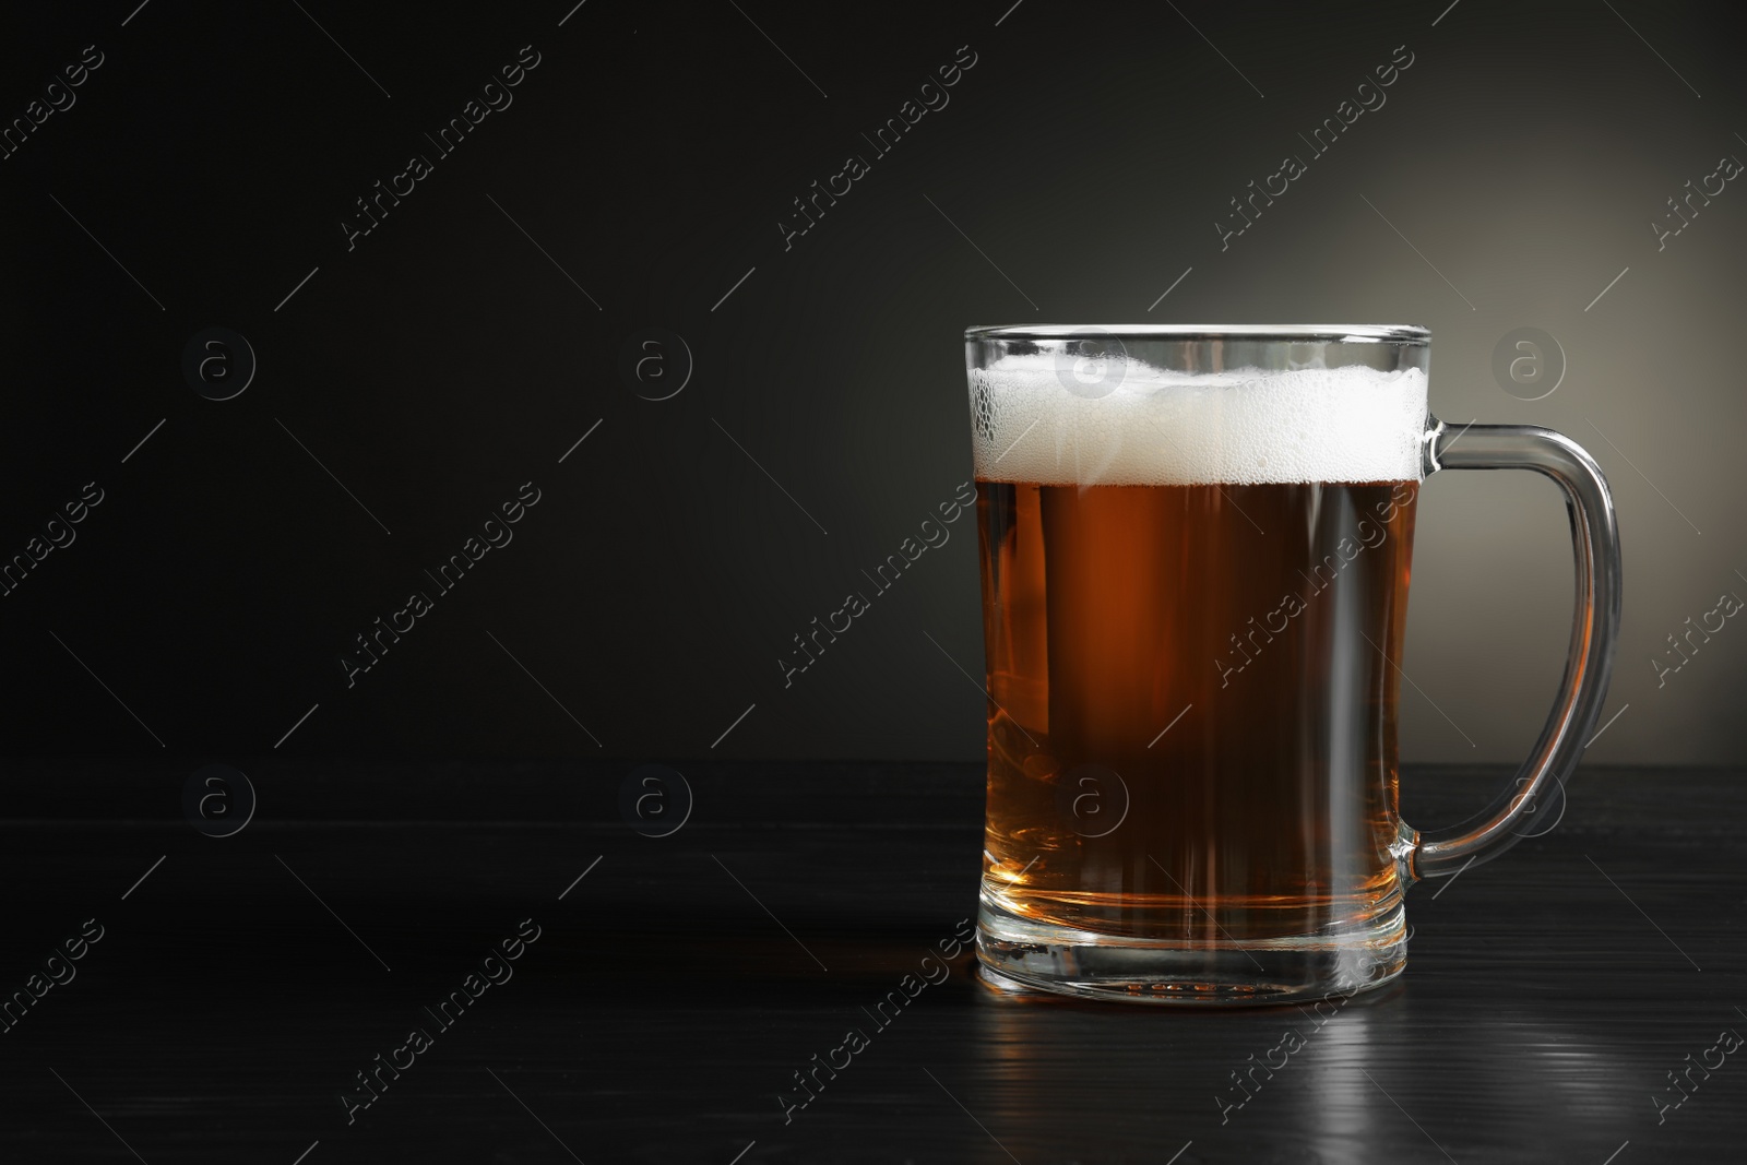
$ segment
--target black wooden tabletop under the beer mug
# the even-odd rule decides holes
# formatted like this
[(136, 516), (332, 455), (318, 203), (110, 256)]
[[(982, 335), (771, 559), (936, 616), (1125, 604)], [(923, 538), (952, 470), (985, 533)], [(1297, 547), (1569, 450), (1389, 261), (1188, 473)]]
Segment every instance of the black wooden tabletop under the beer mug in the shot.
[[(1003, 997), (961, 955), (877, 1027), (973, 917), (977, 767), (680, 765), (660, 838), (620, 819), (631, 765), (260, 762), (224, 838), (182, 816), (192, 769), (7, 769), (0, 990), (82, 955), (0, 1036), (7, 1163), (1637, 1165), (1747, 1135), (1740, 772), (1579, 774), (1557, 831), (1417, 887), (1403, 980), (1322, 1022)], [(1502, 781), (1413, 770), (1403, 810)]]

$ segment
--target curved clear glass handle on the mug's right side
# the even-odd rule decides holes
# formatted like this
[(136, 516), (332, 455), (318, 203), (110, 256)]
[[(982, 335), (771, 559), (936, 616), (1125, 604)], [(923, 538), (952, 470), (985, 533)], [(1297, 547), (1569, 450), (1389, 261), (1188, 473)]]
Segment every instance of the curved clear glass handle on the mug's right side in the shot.
[(1578, 559), (1578, 610), (1558, 700), (1516, 779), (1474, 828), (1413, 835), (1415, 877), (1443, 877), (1488, 861), (1520, 840), (1518, 828), (1551, 786), (1578, 767), (1607, 699), (1619, 632), (1619, 527), (1607, 479), (1578, 442), (1530, 424), (1469, 424), (1452, 430), (1436, 417), (1426, 431), (1426, 475), (1438, 470), (1534, 470), (1565, 493)]

